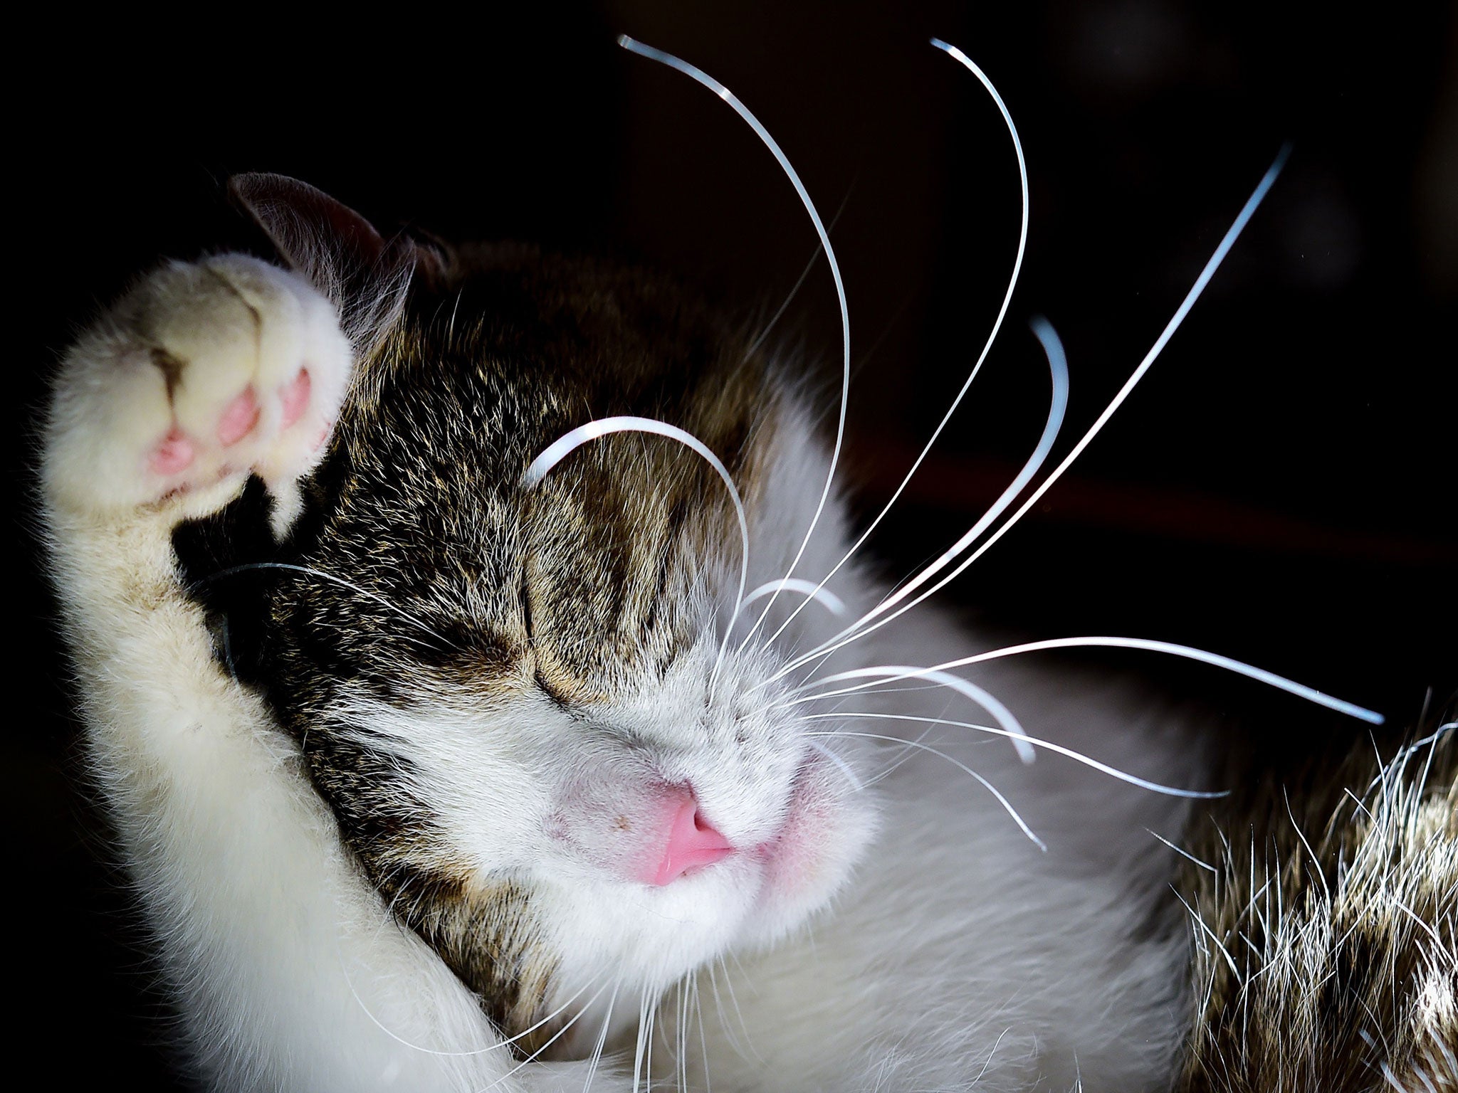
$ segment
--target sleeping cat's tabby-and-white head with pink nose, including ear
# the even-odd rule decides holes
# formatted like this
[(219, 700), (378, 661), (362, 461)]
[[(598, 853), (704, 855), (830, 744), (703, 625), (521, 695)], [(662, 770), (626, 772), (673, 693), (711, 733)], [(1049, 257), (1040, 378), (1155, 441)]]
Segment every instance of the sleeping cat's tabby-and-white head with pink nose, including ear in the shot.
[[(516, 1033), (824, 906), (870, 806), (773, 676), (831, 631), (800, 612), (741, 649), (760, 600), (726, 635), (739, 523), (675, 439), (607, 436), (523, 481), (588, 421), (668, 423), (744, 498), (748, 587), (784, 577), (828, 469), (786, 382), (666, 280), (385, 240), (287, 179), (235, 192), (337, 299), (362, 359), (283, 544), (260, 535), (255, 484), (179, 554), (220, 659), (300, 743), (394, 915)], [(800, 571), (838, 558), (840, 519)], [(287, 568), (236, 568), (260, 561)]]

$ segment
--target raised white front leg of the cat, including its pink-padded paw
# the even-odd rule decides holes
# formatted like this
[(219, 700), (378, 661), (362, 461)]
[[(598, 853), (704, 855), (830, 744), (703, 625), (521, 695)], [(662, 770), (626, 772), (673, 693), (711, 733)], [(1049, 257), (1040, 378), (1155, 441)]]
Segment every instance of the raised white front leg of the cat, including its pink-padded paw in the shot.
[[(241, 255), (152, 274), (61, 366), (44, 453), (52, 567), (93, 772), (210, 1081), (483, 1089), (515, 1059), (389, 920), (293, 742), (219, 670), (178, 579), (176, 525), (249, 472), (276, 523), (290, 516), (350, 369), (332, 305), (296, 274)], [(525, 1074), (496, 1089), (535, 1089)]]

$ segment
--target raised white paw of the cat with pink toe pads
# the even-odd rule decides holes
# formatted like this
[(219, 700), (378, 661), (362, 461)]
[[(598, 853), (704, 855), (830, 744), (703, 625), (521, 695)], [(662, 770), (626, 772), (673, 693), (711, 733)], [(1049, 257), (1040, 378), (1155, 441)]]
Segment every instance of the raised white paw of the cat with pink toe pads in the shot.
[(246, 255), (171, 262), (67, 354), (47, 477), (71, 503), (136, 507), (322, 455), (353, 354), (334, 305)]

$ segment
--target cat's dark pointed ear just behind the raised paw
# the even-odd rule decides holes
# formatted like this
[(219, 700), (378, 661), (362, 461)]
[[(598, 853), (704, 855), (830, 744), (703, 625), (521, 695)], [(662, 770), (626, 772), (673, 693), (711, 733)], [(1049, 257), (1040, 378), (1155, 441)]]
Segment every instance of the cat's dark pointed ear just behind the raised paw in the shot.
[(246, 173), (233, 175), (227, 188), (284, 261), (334, 300), (360, 354), (394, 324), (411, 278), (433, 280), (445, 265), (434, 248), (404, 235), (386, 239), (353, 208), (308, 182)]

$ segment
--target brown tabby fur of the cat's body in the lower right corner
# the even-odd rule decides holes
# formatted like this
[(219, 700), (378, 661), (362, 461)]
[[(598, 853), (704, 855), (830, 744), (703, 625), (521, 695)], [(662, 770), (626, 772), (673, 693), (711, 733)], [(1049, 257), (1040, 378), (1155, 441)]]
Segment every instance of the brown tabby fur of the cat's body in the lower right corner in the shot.
[(1458, 1090), (1458, 733), (1197, 826), (1180, 1093)]

